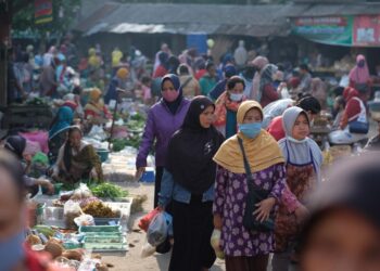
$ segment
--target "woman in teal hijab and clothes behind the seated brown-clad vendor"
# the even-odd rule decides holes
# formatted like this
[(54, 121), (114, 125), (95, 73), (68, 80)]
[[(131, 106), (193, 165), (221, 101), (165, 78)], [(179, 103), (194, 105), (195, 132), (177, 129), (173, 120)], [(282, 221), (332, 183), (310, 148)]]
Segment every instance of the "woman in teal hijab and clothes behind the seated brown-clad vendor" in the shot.
[(73, 109), (62, 106), (53, 119), (49, 130), (49, 160), (53, 165), (56, 160), (58, 152), (66, 141), (66, 132), (73, 122)]

